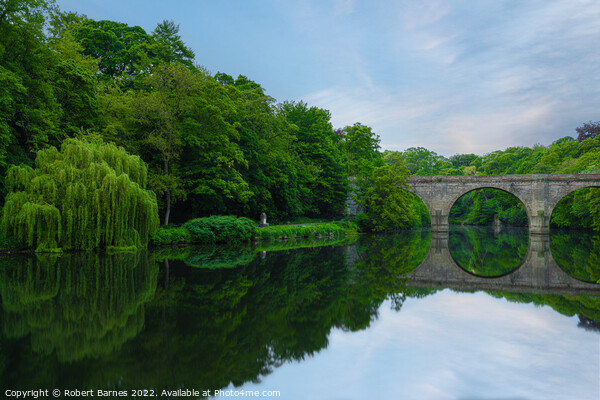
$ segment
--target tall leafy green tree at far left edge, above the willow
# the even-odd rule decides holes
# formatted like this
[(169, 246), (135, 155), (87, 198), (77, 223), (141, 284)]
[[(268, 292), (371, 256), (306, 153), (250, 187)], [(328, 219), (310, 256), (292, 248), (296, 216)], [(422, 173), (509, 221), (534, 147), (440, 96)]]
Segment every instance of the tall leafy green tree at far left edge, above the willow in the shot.
[(31, 165), (36, 151), (98, 127), (96, 61), (69, 31), (82, 19), (52, 1), (0, 3), (2, 179), (10, 164)]

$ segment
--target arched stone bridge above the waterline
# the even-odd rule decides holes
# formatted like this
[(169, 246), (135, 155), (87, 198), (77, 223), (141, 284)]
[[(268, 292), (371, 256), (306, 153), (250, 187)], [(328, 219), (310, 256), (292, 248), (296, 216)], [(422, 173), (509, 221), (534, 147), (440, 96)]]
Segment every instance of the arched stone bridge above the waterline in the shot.
[(448, 231), (450, 209), (463, 194), (494, 188), (513, 194), (523, 203), (529, 232), (547, 234), (552, 210), (560, 199), (577, 189), (600, 187), (600, 174), (411, 176), (407, 183), (408, 190), (427, 206), (432, 232)]

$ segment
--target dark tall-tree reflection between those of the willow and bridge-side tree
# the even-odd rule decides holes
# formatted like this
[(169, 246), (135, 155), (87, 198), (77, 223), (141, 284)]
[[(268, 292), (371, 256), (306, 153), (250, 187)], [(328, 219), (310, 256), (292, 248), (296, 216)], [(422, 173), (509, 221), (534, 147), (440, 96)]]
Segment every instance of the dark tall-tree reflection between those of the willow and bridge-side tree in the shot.
[[(344, 248), (268, 253), (235, 269), (190, 270), (180, 299), (150, 311), (136, 354), (151, 359), (119, 366), (126, 385), (219, 389), (268, 374), (288, 360), (323, 349), (340, 320), (348, 271)], [(131, 351), (131, 350), (130, 350)]]

